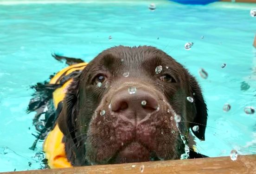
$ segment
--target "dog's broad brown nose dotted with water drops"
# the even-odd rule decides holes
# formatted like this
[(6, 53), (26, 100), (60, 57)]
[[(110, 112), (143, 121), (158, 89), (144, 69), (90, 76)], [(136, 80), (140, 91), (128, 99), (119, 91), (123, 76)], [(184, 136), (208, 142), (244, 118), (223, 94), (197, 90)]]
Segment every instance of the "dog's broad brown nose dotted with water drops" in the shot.
[(128, 118), (131, 121), (140, 121), (159, 108), (158, 101), (154, 94), (142, 89), (129, 93), (128, 90), (122, 90), (112, 97), (111, 110), (118, 112), (121, 117)]

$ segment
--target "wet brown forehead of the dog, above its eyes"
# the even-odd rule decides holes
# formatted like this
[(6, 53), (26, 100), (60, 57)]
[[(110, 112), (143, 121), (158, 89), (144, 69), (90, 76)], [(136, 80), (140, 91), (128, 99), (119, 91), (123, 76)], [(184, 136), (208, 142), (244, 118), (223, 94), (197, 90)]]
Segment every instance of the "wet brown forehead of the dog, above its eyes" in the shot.
[[(109, 72), (121, 75), (125, 72), (154, 75), (155, 69), (162, 66), (173, 75), (183, 73), (183, 66), (164, 51), (152, 46), (116, 46), (102, 51), (87, 68), (89, 74)], [(168, 67), (168, 69), (166, 69)]]

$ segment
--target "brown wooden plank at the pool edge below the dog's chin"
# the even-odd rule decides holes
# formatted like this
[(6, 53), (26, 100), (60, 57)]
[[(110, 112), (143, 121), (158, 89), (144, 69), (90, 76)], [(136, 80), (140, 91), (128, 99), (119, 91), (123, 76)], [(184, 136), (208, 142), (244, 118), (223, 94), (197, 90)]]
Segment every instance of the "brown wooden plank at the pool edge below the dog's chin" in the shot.
[[(144, 165), (144, 171), (140, 168)], [(3, 174), (256, 174), (256, 155), (238, 155), (236, 161), (229, 156), (96, 165), (75, 168), (58, 168), (9, 172)]]

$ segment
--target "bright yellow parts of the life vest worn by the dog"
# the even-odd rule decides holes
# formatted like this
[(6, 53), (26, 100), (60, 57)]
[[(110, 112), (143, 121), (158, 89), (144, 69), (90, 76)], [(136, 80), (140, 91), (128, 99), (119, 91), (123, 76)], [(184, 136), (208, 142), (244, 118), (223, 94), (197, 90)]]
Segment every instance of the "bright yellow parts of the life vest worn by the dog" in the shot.
[[(88, 63), (78, 63), (71, 65), (59, 71), (50, 81), (50, 84), (61, 84), (61, 79), (68, 77), (77, 70), (83, 70)], [(61, 87), (58, 87), (53, 92), (53, 104), (57, 109), (58, 103), (62, 101), (65, 97), (67, 88), (72, 82), (72, 78), (67, 78), (67, 81), (62, 84)], [(45, 151), (45, 156), (48, 159), (48, 165), (50, 168), (71, 168), (72, 165), (68, 161), (65, 152), (65, 144), (62, 143), (63, 133), (60, 131), (58, 124), (54, 129), (48, 134), (43, 145), (43, 150)]]

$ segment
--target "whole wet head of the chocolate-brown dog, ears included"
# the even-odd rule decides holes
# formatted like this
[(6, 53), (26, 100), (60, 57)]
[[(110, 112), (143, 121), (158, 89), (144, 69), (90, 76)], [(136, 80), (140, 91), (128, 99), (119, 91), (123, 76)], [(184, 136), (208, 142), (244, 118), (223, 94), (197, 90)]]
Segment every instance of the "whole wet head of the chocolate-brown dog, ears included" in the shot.
[(58, 125), (69, 160), (85, 165), (179, 159), (180, 134), (196, 125), (204, 140), (206, 121), (200, 87), (182, 65), (154, 47), (118, 46), (74, 79)]

